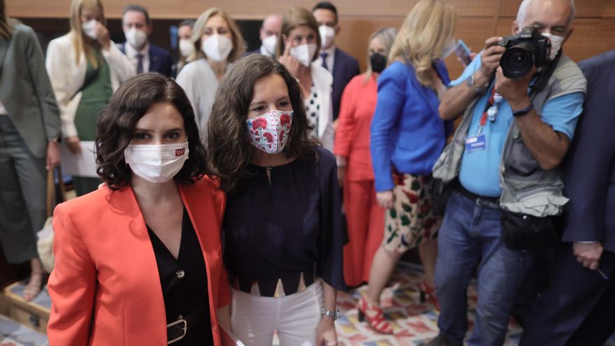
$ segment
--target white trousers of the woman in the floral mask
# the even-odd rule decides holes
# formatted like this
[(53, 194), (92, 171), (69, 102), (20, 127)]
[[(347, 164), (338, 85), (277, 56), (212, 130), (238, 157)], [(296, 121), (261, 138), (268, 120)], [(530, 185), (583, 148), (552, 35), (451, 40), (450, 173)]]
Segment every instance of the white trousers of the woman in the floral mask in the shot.
[(231, 327), (246, 346), (273, 344), (277, 331), (280, 346), (314, 346), (323, 305), (322, 283), (280, 298), (255, 296), (231, 289)]

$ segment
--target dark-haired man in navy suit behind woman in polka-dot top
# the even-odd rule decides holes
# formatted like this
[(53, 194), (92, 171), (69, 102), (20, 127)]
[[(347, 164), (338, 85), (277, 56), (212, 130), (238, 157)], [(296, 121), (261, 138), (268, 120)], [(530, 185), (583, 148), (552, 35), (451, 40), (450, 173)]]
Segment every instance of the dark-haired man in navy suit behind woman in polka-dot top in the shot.
[(323, 1), (317, 3), (312, 14), (319, 25), (321, 40), (320, 57), (316, 63), (321, 64), (333, 75), (333, 120), (338, 119), (342, 92), (348, 82), (360, 73), (359, 61), (343, 50), (335, 47), (335, 36), (340, 32), (338, 24), (338, 9), (333, 3)]

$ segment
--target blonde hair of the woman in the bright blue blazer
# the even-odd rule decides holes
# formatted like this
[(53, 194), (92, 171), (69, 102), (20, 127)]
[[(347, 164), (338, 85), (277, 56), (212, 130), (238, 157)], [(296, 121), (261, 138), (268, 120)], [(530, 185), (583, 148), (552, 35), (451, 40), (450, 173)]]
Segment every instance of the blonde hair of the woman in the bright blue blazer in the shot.
[(389, 53), (389, 64), (409, 61), (421, 85), (433, 87), (428, 78), (435, 59), (442, 57), (444, 46), (455, 32), (457, 13), (442, 0), (421, 0), (408, 13)]

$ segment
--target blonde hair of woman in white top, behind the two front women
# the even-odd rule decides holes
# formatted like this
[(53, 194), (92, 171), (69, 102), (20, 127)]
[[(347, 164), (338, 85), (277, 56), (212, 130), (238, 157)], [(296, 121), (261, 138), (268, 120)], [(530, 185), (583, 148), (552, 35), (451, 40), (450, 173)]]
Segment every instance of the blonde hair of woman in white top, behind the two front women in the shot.
[(233, 41), (233, 50), (229, 53), (229, 57), (226, 58), (226, 61), (234, 62), (240, 57), (243, 57), (245, 53), (245, 41), (243, 41), (243, 36), (241, 36), (241, 31), (239, 31), (237, 23), (228, 13), (224, 12), (222, 8), (212, 7), (205, 10), (205, 12), (198, 17), (196, 22), (194, 22), (191, 39), (192, 44), (194, 45), (194, 50), (188, 57), (188, 62), (194, 62), (194, 60), (205, 57), (205, 53), (201, 50), (201, 36), (203, 36), (203, 33), (205, 32), (205, 24), (207, 24), (207, 21), (215, 15), (219, 15), (226, 21), (226, 24), (229, 25), (229, 29), (231, 30), (231, 36), (233, 36), (231, 40)]

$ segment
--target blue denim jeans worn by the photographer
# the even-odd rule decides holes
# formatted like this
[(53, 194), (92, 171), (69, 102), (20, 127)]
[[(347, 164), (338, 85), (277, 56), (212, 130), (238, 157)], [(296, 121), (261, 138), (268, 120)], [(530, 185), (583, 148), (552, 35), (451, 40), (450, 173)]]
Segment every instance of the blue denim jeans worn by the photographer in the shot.
[(438, 234), (437, 325), (455, 344), (468, 331), (468, 284), (478, 268), (478, 302), (468, 345), (502, 345), (509, 310), (533, 252), (509, 250), (501, 240), (500, 210), (453, 192)]

